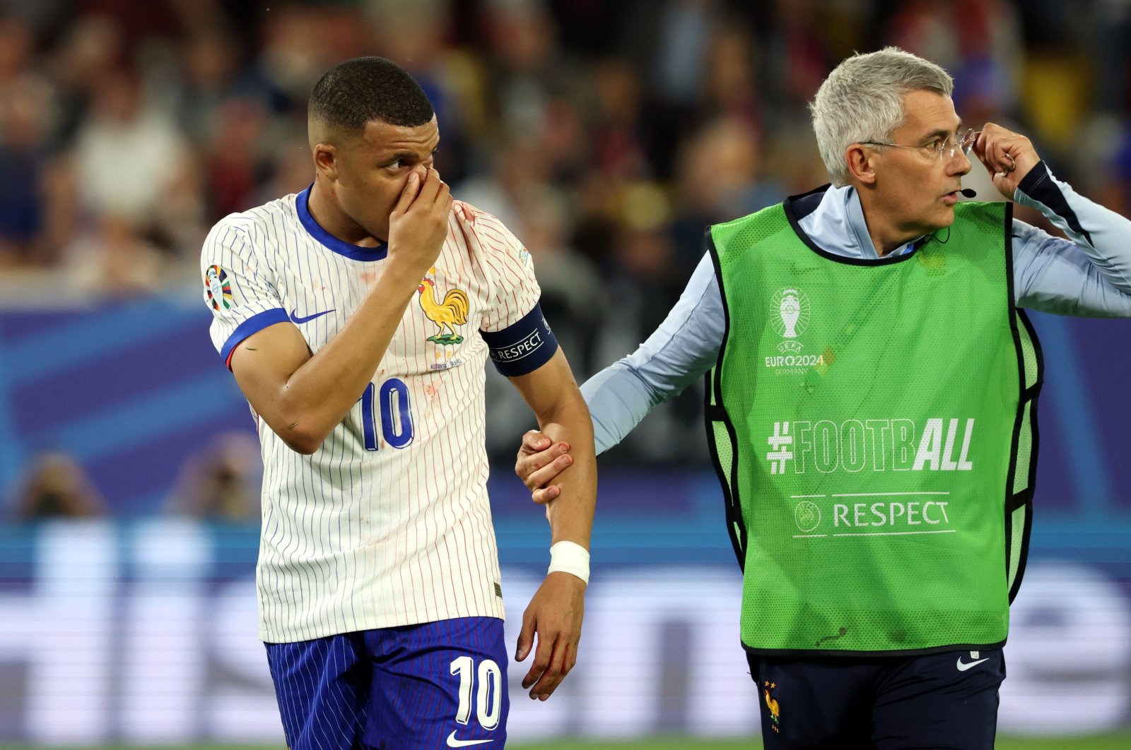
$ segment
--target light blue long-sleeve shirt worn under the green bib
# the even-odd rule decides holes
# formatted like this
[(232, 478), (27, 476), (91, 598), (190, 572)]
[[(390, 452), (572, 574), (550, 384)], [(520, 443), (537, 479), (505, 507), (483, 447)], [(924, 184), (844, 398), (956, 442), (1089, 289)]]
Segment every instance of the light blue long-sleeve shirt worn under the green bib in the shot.
[[(1044, 213), (1070, 241), (1013, 220), (1013, 294), (1019, 307), (1059, 315), (1131, 317), (1131, 221), (1079, 195), (1042, 162), (1013, 200)], [(798, 223), (822, 250), (878, 260), (856, 190), (830, 188)], [(917, 242), (917, 241), (916, 241)], [(915, 243), (889, 258), (910, 252)], [(620, 443), (656, 404), (680, 394), (717, 360), (726, 316), (709, 254), (667, 319), (628, 357), (581, 386), (597, 453)]]

